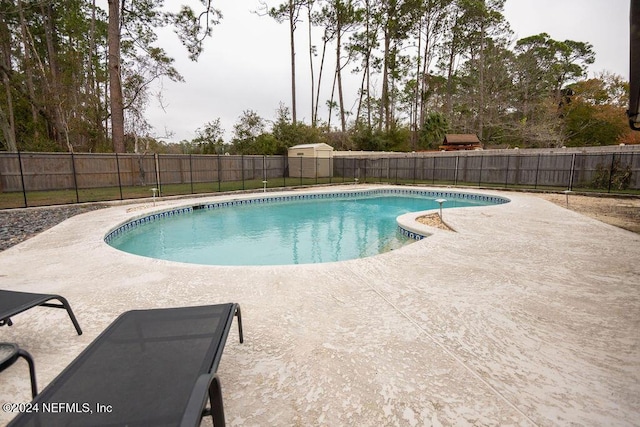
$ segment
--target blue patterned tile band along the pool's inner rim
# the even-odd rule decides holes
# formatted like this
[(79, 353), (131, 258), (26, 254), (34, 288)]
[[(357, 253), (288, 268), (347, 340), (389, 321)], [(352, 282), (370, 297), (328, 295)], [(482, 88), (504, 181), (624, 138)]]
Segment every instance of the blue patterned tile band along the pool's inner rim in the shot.
[[(355, 198), (363, 196), (375, 196), (380, 194), (394, 194), (394, 195), (412, 195), (412, 196), (424, 196), (424, 197), (437, 197), (437, 198), (449, 198), (460, 200), (476, 200), (481, 202), (487, 202), (492, 204), (508, 203), (510, 200), (506, 197), (493, 196), (487, 194), (478, 193), (463, 193), (457, 191), (434, 191), (434, 190), (418, 190), (407, 188), (380, 188), (371, 190), (356, 190), (356, 191), (340, 191), (330, 193), (306, 193), (306, 194), (292, 194), (292, 195), (274, 195), (274, 196), (248, 196), (242, 199), (225, 200), (220, 202), (207, 202), (194, 204), (189, 206), (181, 206), (177, 208), (170, 208), (160, 210), (150, 214), (145, 214), (133, 219), (128, 219), (125, 222), (117, 225), (113, 229), (109, 230), (104, 236), (104, 242), (110, 244), (110, 242), (122, 233), (125, 233), (139, 225), (146, 224), (148, 222), (157, 221), (160, 219), (180, 215), (184, 213), (191, 213), (194, 210), (199, 209), (220, 209), (233, 206), (250, 205), (250, 204), (264, 204), (264, 203), (282, 203), (296, 200), (317, 200), (317, 199), (345, 199)], [(415, 229), (408, 228), (398, 224), (400, 232), (406, 237), (414, 240), (421, 240), (428, 236), (427, 233), (422, 234)]]

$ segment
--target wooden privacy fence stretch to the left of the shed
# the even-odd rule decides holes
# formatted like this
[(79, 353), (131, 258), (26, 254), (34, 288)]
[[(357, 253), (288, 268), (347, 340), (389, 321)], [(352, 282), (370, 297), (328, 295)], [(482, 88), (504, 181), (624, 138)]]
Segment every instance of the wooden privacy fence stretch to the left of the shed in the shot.
[[(267, 164), (268, 163), (268, 164)], [(283, 157), (0, 153), (0, 189), (50, 191), (282, 176)]]

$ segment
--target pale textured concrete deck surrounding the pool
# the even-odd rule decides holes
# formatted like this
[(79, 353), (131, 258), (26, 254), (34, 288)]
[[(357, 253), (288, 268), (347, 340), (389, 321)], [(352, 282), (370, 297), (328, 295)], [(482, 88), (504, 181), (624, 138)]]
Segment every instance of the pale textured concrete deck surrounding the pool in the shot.
[[(73, 217), (0, 252), (0, 288), (65, 296), (84, 334), (34, 308), (0, 341), (32, 354), (42, 389), (124, 311), (237, 302), (245, 343), (234, 325), (218, 370), (232, 426), (638, 425), (640, 235), (536, 197), (449, 191), (511, 202), (445, 210), (456, 232), (327, 264), (198, 266), (104, 243), (188, 199)], [(0, 403), (30, 400), (25, 362), (0, 378)]]

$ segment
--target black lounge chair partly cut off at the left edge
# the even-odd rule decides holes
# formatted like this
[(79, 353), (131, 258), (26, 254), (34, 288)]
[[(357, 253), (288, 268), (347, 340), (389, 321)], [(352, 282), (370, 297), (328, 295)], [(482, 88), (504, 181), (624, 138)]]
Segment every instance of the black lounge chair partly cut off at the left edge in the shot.
[[(51, 300), (60, 301), (59, 304), (51, 303)], [(0, 326), (11, 326), (13, 322), (11, 317), (33, 307), (53, 307), (64, 308), (67, 310), (73, 326), (75, 326), (78, 335), (82, 335), (82, 329), (74, 316), (69, 302), (60, 295), (52, 294), (32, 294), (29, 292), (16, 292), (0, 290)]]

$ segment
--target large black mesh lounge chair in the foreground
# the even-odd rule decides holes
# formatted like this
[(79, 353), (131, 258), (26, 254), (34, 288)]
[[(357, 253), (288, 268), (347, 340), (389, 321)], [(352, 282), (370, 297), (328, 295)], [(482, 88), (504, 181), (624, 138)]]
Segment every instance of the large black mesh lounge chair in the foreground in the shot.
[(234, 316), (243, 342), (237, 304), (128, 311), (9, 426), (224, 425), (216, 370)]

